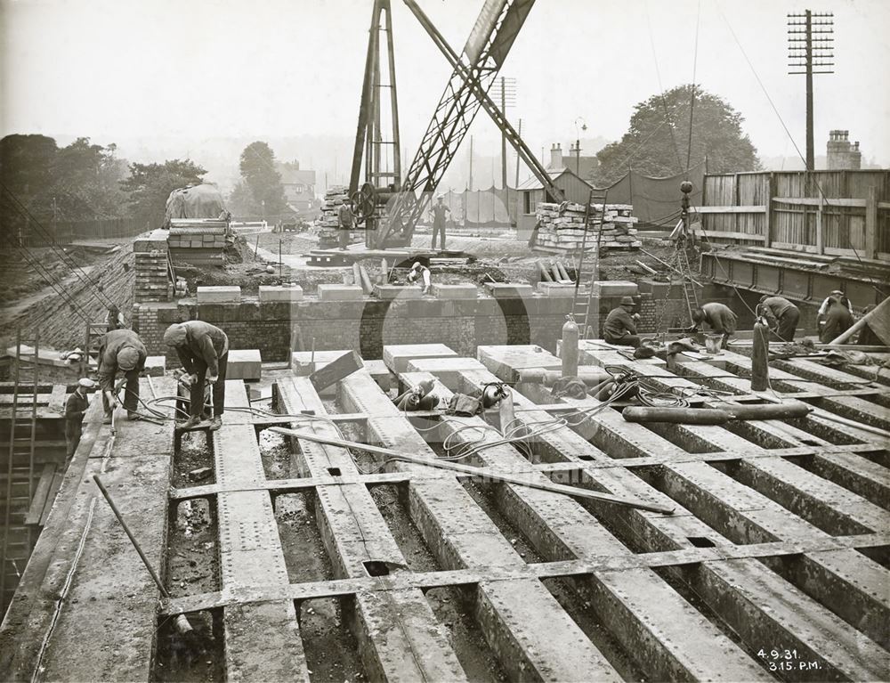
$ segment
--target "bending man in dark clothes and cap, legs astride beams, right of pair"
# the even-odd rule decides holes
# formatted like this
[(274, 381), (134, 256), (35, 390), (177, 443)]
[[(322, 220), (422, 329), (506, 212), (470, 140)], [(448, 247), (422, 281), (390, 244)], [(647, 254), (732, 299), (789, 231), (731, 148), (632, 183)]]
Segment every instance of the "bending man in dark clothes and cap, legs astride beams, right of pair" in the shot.
[(189, 373), (190, 417), (182, 429), (195, 427), (204, 412), (205, 382), (213, 385), (214, 418), (210, 431), (223, 427), (225, 372), (229, 363), (229, 337), (222, 329), (205, 321), (174, 322), (164, 333), (164, 343), (173, 346), (182, 367)]

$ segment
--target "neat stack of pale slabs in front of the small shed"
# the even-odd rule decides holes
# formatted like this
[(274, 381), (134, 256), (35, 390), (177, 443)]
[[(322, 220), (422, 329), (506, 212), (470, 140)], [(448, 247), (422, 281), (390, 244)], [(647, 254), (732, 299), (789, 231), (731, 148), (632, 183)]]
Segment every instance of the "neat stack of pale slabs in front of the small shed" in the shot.
[[(576, 251), (584, 243), (585, 207), (572, 202), (565, 204), (562, 210), (560, 206), (547, 202), (538, 204), (538, 246)], [(643, 243), (637, 238), (635, 228), (639, 219), (631, 215), (633, 211), (634, 207), (629, 204), (606, 204), (604, 207), (603, 204), (591, 204), (586, 248), (593, 248), (598, 237), (600, 248), (640, 248)], [(602, 235), (599, 234), (601, 230)]]

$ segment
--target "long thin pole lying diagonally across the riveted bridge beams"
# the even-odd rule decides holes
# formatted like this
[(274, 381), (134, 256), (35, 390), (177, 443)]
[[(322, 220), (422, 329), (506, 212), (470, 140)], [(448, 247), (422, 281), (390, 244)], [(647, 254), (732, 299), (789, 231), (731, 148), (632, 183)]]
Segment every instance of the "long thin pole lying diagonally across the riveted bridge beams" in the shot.
[(551, 493), (562, 493), (562, 495), (570, 496), (572, 498), (599, 500), (602, 502), (614, 503), (616, 505), (621, 505), (627, 508), (639, 508), (641, 510), (649, 510), (650, 512), (660, 512), (665, 515), (671, 515), (674, 513), (674, 508), (665, 508), (660, 505), (651, 505), (649, 503), (643, 503), (638, 500), (619, 498), (618, 496), (613, 496), (610, 493), (588, 491), (587, 489), (581, 489), (577, 486), (564, 486), (562, 484), (540, 484), (538, 482), (532, 482), (527, 479), (522, 479), (522, 477), (519, 476), (505, 475), (503, 473), (495, 472), (490, 469), (473, 468), (469, 465), (460, 465), (457, 462), (447, 462), (445, 460), (419, 458), (417, 456), (408, 455), (407, 453), (402, 453), (400, 451), (393, 451), (390, 448), (372, 446), (368, 443), (358, 443), (355, 441), (344, 441), (343, 439), (337, 439), (333, 436), (322, 436), (317, 434), (310, 434), (308, 432), (298, 432), (295, 429), (287, 429), (286, 427), (270, 427), (269, 429), (272, 432), (295, 436), (298, 439), (305, 439), (306, 441), (312, 441), (314, 443), (327, 443), (328, 445), (340, 446), (341, 448), (354, 448), (360, 451), (368, 451), (369, 453), (377, 453), (378, 455), (386, 455), (393, 459), (405, 460), (406, 462), (412, 462), (416, 465), (425, 465), (428, 468), (448, 469), (452, 472), (463, 472), (467, 475), (480, 476), (495, 482), (504, 482), (505, 484), (518, 484), (520, 486), (528, 486), (531, 489), (538, 489), (540, 491), (548, 491)]

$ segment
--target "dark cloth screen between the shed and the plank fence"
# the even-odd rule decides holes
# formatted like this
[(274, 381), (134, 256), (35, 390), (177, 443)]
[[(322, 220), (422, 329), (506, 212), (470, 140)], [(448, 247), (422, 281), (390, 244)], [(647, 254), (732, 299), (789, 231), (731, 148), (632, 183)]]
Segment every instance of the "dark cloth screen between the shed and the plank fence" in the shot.
[(632, 204), (634, 215), (641, 224), (674, 227), (680, 216), (680, 183), (692, 183), (689, 195), (690, 207), (701, 206), (701, 189), (705, 185), (705, 162), (689, 169), (688, 174), (669, 175), (667, 178), (650, 178), (630, 171), (617, 183), (608, 188), (609, 204)]

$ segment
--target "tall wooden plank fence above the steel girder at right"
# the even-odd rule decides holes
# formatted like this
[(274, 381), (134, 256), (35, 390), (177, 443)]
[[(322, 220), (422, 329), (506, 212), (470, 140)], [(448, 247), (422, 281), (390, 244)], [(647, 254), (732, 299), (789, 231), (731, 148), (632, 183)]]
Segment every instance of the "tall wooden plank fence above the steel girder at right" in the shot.
[(890, 171), (705, 175), (708, 240), (890, 261)]

